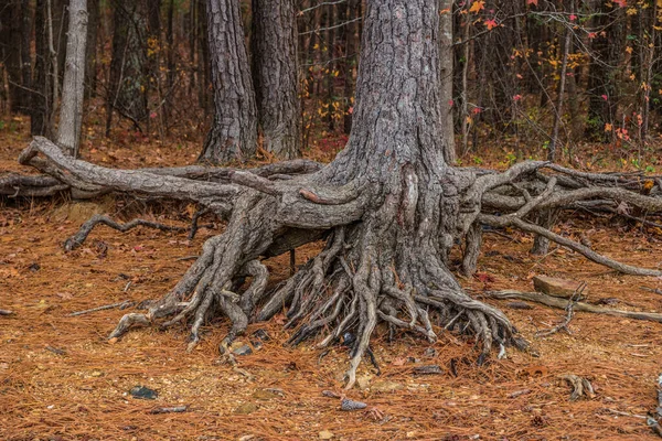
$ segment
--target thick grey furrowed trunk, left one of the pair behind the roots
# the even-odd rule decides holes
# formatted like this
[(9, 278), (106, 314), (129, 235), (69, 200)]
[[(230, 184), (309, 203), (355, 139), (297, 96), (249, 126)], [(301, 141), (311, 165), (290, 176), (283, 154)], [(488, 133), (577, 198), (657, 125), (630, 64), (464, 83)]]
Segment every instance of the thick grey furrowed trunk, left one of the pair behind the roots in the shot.
[(257, 149), (257, 108), (238, 0), (207, 0), (214, 121), (200, 161), (245, 161)]

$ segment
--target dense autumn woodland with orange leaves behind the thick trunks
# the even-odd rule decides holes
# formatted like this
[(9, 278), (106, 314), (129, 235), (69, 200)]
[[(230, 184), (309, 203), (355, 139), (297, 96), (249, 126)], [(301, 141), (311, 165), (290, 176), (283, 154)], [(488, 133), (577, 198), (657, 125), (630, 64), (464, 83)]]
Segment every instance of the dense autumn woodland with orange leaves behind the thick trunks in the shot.
[[(545, 157), (652, 171), (662, 111), (660, 2), (442, 1), (442, 96), (461, 163)], [(242, 1), (250, 40), (250, 4)], [(330, 153), (352, 125), (362, 3), (298, 2), (302, 151)], [(0, 8), (0, 110), (53, 133), (65, 0)], [(90, 0), (87, 138), (196, 139), (213, 117), (205, 2)], [(250, 47), (250, 45), (248, 45)], [(499, 141), (499, 142), (495, 142)], [(586, 154), (577, 154), (587, 142)], [(172, 143), (177, 144), (177, 143)]]

